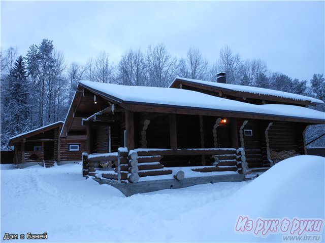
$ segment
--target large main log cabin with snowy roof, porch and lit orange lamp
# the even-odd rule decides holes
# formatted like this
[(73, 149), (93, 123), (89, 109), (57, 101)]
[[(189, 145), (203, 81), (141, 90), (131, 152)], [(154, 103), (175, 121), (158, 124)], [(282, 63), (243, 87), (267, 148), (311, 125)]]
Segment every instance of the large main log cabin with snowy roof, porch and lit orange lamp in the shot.
[(81, 81), (61, 138), (86, 136), (83, 176), (125, 195), (242, 181), (274, 166), (279, 154), (305, 154), (306, 129), (325, 124), (323, 112), (305, 107), (321, 103), (310, 97), (242, 94), (231, 86), (220, 95), (183, 89), (186, 82), (155, 88)]

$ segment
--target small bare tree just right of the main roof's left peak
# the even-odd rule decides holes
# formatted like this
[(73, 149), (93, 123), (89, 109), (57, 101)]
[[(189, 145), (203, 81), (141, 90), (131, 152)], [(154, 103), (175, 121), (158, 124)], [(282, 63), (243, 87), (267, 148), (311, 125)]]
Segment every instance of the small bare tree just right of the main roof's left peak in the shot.
[(94, 61), (93, 80), (100, 83), (113, 83), (114, 66), (110, 63), (109, 54), (100, 52)]

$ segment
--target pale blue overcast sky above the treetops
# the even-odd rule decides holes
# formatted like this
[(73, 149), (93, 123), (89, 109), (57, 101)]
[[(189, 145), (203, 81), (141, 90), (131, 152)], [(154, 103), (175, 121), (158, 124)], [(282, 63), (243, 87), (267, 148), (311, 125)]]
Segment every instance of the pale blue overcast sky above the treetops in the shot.
[(199, 48), (210, 63), (229, 45), (243, 59), (261, 58), (272, 71), (310, 79), (324, 73), (321, 2), (1, 2), (2, 48), (53, 40), (68, 62), (100, 51), (117, 63), (129, 48), (165, 43), (186, 56)]

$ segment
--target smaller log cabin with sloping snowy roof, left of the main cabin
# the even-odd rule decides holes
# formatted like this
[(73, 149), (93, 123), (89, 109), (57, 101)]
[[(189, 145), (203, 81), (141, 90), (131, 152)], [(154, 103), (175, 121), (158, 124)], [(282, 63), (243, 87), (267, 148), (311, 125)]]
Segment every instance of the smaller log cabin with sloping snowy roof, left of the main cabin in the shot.
[(75, 163), (86, 151), (86, 138), (82, 136), (60, 138), (63, 121), (12, 137), (9, 146), (14, 146), (14, 164), (19, 168), (41, 165), (46, 168), (55, 163)]

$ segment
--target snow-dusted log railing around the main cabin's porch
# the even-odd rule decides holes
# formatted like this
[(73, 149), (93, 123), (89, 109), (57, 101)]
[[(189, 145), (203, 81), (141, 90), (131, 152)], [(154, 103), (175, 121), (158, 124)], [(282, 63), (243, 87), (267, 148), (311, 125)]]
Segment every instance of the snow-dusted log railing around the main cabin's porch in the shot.
[[(82, 154), (82, 175), (137, 182), (140, 177), (172, 174), (171, 168), (160, 164), (163, 156), (169, 155), (211, 155), (213, 166), (199, 166), (192, 171), (215, 172), (234, 171), (247, 173), (245, 150), (243, 148), (191, 148), (191, 149), (143, 149), (128, 151), (119, 148), (118, 152), (100, 154)], [(112, 168), (112, 166), (115, 168)], [(109, 169), (110, 168), (110, 169)]]

